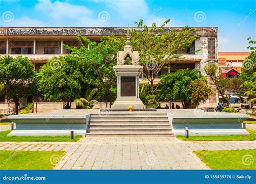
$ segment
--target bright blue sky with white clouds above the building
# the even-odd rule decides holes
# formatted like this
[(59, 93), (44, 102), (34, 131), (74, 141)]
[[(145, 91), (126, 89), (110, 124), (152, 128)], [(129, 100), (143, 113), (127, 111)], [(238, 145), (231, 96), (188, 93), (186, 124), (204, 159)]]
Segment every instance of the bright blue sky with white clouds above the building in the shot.
[(256, 36), (254, 0), (0, 0), (0, 26), (135, 26), (218, 27), (219, 52), (244, 52)]

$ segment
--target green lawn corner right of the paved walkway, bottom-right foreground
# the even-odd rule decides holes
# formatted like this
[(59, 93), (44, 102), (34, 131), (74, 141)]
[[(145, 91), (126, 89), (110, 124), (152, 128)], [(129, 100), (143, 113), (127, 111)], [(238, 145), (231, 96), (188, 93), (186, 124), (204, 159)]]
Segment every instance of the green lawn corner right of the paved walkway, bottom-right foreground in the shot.
[(211, 169), (256, 169), (256, 149), (194, 151)]

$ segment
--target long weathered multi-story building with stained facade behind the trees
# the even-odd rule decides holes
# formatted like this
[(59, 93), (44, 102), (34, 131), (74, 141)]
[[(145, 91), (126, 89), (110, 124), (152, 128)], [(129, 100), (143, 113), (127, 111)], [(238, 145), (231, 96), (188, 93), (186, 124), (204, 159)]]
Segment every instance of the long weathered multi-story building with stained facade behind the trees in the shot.
[[(69, 54), (63, 45), (79, 47), (77, 35), (86, 36), (93, 41), (109, 34), (123, 36), (127, 29), (138, 27), (0, 27), (0, 55), (26, 56), (38, 71), (44, 63), (53, 56)], [(182, 29), (181, 27), (166, 27), (167, 30)], [(160, 74), (174, 72), (183, 68), (198, 68), (203, 73), (204, 65), (217, 64), (218, 57), (218, 29), (217, 27), (198, 27), (194, 33), (197, 39), (191, 47), (180, 51), (184, 59), (170, 60), (169, 68), (162, 69)], [(194, 51), (198, 51), (194, 53)], [(201, 107), (215, 107), (218, 102), (216, 89), (209, 81), (214, 94)]]

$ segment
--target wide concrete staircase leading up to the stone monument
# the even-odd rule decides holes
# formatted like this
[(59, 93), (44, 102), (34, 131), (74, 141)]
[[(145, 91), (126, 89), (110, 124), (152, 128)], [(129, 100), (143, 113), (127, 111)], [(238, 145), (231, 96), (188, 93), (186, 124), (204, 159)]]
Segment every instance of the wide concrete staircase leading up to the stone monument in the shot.
[(86, 137), (173, 137), (167, 114), (110, 112), (91, 114)]

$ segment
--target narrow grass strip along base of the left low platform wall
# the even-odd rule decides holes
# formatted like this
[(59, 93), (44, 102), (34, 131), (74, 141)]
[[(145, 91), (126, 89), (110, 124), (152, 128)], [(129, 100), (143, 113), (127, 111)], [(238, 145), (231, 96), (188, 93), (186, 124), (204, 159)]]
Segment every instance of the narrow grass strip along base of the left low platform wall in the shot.
[(74, 139), (70, 139), (70, 136), (57, 136), (57, 137), (50, 137), (50, 136), (42, 136), (42, 137), (34, 137), (34, 136), (11, 136), (7, 137), (7, 135), (12, 130), (7, 130), (0, 132), (0, 141), (78, 141), (82, 136), (74, 136)]

